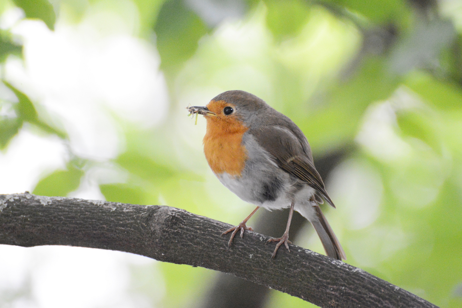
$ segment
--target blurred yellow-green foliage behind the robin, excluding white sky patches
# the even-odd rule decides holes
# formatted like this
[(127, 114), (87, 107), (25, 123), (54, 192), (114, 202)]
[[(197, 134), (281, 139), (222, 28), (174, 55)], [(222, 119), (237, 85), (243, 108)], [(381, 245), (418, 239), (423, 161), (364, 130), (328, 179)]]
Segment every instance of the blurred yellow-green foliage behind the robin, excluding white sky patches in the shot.
[[(47, 1), (14, 2), (53, 29)], [(89, 5), (74, 2), (61, 1), (61, 10), (75, 7), (78, 15)], [(240, 221), (251, 209), (208, 170), (204, 121), (194, 126), (184, 107), (226, 90), (249, 91), (292, 118), (315, 157), (351, 149), (327, 181), (337, 205), (329, 221), (348, 263), (442, 308), (462, 307), (462, 13), (445, 8), (452, 1), (133, 2), (138, 35), (155, 37), (170, 111), (155, 128), (123, 123), (125, 150), (111, 163), (127, 177), (98, 182), (107, 200)], [(210, 12), (222, 17), (218, 24), (205, 18)], [(2, 60), (21, 53), (9, 37), (1, 36)], [(2, 102), (1, 149), (24, 121), (68, 138), (37, 113), (38, 103), (4, 83), (18, 101)], [(72, 159), (66, 170), (44, 175), (34, 193), (66, 196), (98, 164)], [(336, 186), (335, 177), (345, 180)], [(317, 240), (297, 241), (323, 253)], [(160, 267), (162, 307), (201, 302), (213, 282), (201, 268)], [(312, 306), (275, 291), (266, 303)]]

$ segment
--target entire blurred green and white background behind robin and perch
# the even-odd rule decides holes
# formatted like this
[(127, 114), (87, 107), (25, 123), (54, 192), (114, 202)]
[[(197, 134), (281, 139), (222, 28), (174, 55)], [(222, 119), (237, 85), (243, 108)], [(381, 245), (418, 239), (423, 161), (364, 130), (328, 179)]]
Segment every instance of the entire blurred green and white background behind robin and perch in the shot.
[[(209, 170), (205, 121), (185, 107), (249, 91), (310, 141), (346, 262), (462, 307), (461, 0), (1, 0), (0, 61), (0, 193), (237, 224), (253, 206)], [(282, 214), (249, 225), (273, 235)], [(324, 253), (295, 224), (292, 241)], [(2, 308), (315, 307), (262, 288), (121, 252), (0, 245)]]

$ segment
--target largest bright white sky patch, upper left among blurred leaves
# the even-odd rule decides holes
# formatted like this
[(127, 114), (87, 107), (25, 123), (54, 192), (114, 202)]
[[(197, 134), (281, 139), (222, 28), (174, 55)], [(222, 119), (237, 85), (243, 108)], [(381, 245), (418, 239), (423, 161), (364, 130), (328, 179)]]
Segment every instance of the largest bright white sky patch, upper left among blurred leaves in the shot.
[[(127, 30), (117, 32), (122, 21), (112, 15), (89, 13), (72, 25), (59, 21), (55, 31), (41, 21), (24, 20), (13, 32), (24, 40), (25, 64), (6, 64), (7, 79), (57, 116), (73, 152), (100, 161), (123, 150), (114, 116), (148, 128), (168, 107), (157, 51)], [(101, 18), (116, 30), (98, 33)]]

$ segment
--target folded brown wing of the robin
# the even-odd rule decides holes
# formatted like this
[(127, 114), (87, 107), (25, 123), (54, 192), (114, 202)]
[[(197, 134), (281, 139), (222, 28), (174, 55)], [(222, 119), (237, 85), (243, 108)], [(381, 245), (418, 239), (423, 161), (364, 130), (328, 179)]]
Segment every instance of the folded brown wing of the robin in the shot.
[[(330, 205), (335, 207), (326, 192), (321, 175), (316, 171), (311, 157), (310, 145), (305, 138), (300, 140), (289, 128), (280, 126), (260, 127), (249, 133), (255, 137), (261, 147), (274, 157), (274, 162), (280, 168), (305, 181), (316, 189), (317, 193)], [(319, 199), (316, 198), (316, 200)]]

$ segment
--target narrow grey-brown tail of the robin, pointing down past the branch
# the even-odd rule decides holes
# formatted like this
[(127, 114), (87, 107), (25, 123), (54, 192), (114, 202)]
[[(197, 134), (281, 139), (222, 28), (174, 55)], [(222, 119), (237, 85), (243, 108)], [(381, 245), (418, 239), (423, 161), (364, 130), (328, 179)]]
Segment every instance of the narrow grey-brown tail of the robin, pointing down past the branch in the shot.
[(313, 203), (311, 203), (310, 206), (314, 209), (314, 215), (309, 215), (309, 217), (307, 217), (303, 212), (300, 214), (306, 217), (315, 228), (326, 254), (332, 259), (346, 260), (345, 251), (343, 251), (342, 245), (340, 245), (326, 217), (322, 214), (321, 208), (319, 205), (313, 205)]

